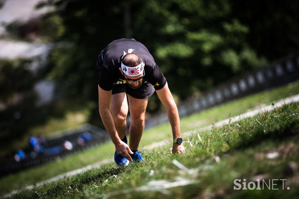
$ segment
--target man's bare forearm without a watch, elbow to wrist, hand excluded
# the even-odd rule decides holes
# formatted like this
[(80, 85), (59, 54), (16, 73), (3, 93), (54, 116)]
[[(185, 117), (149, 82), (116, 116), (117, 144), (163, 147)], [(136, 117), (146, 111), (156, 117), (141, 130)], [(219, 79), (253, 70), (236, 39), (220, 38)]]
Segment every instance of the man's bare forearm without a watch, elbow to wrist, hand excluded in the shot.
[(99, 112), (100, 112), (100, 116), (102, 118), (103, 124), (104, 124), (106, 130), (108, 131), (112, 142), (114, 144), (119, 143), (120, 138), (118, 137), (110, 110), (106, 109), (106, 108), (99, 108)]

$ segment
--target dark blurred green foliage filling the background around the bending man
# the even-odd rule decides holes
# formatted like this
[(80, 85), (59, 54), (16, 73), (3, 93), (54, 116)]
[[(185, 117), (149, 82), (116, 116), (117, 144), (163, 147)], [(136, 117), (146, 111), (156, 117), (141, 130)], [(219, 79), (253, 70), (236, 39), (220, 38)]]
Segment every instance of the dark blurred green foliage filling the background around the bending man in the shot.
[[(299, 45), (295, 26), (298, 14), (294, 10), (297, 4), (284, 2), (278, 7), (270, 1), (46, 1), (41, 5), (57, 8), (45, 17), (53, 21), (56, 30), (46, 36), (64, 44), (50, 55), (50, 75), (60, 82), (66, 97), (97, 100), (97, 55), (112, 40), (132, 37), (153, 54), (173, 94), (185, 99), (294, 52), (294, 44)], [(285, 20), (288, 23), (279, 23)], [(268, 39), (270, 32), (277, 35), (280, 46), (273, 48), (274, 41)], [(265, 51), (265, 46), (271, 49)], [(285, 50), (280, 50), (282, 47)], [(149, 111), (157, 109), (159, 106), (149, 107)]]

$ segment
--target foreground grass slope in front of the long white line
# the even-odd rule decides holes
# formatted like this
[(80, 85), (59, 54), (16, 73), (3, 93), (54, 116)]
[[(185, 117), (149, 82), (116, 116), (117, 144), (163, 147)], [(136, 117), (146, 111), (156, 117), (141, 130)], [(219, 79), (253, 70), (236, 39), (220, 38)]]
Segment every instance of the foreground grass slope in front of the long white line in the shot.
[[(299, 164), (299, 103), (237, 123), (202, 132), (202, 141), (195, 131), (190, 138), (193, 146), (184, 142), (186, 154), (171, 155), (169, 146), (143, 151), (143, 163), (122, 169), (112, 165), (92, 169), (13, 198), (296, 198), (298, 169), (290, 173), (286, 167), (290, 162)], [(277, 152), (278, 157), (267, 158), (270, 152)], [(220, 161), (216, 162), (215, 157), (220, 157)], [(182, 171), (173, 164), (174, 159), (195, 170)], [(274, 186), (279, 190), (234, 190), (234, 180), (244, 178), (247, 182), (254, 178), (286, 181), (284, 190), (281, 181)], [(192, 183), (163, 193), (140, 191), (142, 186), (149, 187), (152, 180), (165, 180), (165, 185), (182, 179)], [(287, 186), (290, 190), (286, 190)]]

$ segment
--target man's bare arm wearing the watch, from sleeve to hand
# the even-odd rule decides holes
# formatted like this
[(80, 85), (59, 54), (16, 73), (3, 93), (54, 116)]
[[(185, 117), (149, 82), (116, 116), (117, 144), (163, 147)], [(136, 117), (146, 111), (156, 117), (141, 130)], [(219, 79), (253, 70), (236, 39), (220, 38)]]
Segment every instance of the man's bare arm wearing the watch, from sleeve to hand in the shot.
[[(177, 138), (181, 137), (180, 118), (179, 118), (179, 112), (176, 106), (176, 102), (174, 102), (173, 100), (167, 82), (163, 88), (156, 90), (156, 92), (162, 104), (166, 108), (168, 120), (172, 128), (173, 139), (176, 140)], [(183, 144), (173, 143), (172, 152), (184, 153), (185, 148)]]

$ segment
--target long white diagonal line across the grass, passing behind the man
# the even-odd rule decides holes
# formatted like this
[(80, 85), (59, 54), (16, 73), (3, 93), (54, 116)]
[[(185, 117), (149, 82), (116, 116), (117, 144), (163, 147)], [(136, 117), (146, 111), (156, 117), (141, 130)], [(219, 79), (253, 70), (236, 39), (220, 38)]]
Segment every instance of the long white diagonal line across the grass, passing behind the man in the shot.
[[(235, 116), (235, 117), (231, 117), (231, 118), (222, 120), (220, 122), (215, 123), (214, 126), (219, 127), (219, 126), (222, 126), (222, 125), (225, 125), (225, 124), (233, 123), (233, 122), (242, 120), (242, 119), (247, 118), (247, 117), (253, 117), (254, 115), (259, 114), (261, 112), (271, 111), (274, 108), (278, 108), (278, 107), (283, 106), (284, 104), (289, 104), (289, 103), (298, 102), (298, 101), (299, 101), (299, 94), (291, 96), (291, 97), (284, 98), (282, 100), (278, 100), (277, 102), (274, 103), (274, 105), (268, 105), (268, 106), (256, 108), (256, 109), (254, 109), (252, 111), (248, 111), (248, 112), (246, 112), (244, 114), (240, 114), (239, 116)], [(208, 125), (208, 126), (199, 128), (198, 132), (209, 130), (212, 127), (213, 127), (213, 125)], [(186, 136), (190, 135), (192, 132), (193, 131), (184, 132), (184, 133), (181, 134), (181, 137), (186, 137)], [(199, 134), (198, 134), (198, 136), (199, 136)], [(169, 143), (171, 143), (171, 141), (172, 140), (167, 139), (167, 140), (163, 140), (161, 142), (155, 142), (155, 143), (152, 143), (150, 145), (142, 147), (142, 149), (147, 149), (147, 150), (154, 149), (156, 147), (164, 146), (165, 144), (169, 144)], [(52, 178), (50, 178), (48, 180), (41, 181), (39, 183), (36, 183), (36, 186), (42, 186), (45, 183), (52, 182), (52, 181), (57, 181), (57, 180), (60, 180), (60, 179), (62, 179), (64, 177), (72, 176), (72, 175), (75, 175), (75, 174), (79, 174), (79, 173), (85, 172), (87, 170), (90, 170), (90, 169), (93, 169), (93, 168), (96, 168), (96, 167), (100, 167), (100, 166), (103, 166), (105, 164), (109, 164), (111, 162), (113, 162), (112, 159), (105, 159), (105, 160), (102, 160), (102, 161), (100, 161), (98, 163), (91, 164), (91, 165), (85, 166), (85, 167), (80, 168), (80, 169), (75, 169), (73, 171), (66, 172), (64, 174), (60, 174), (60, 175), (57, 175), (55, 177), (52, 177)], [(33, 189), (33, 187), (34, 187), (34, 185), (28, 185), (28, 186), (24, 187), (23, 189), (17, 189), (17, 190), (14, 190), (14, 191), (12, 191), (12, 192), (10, 192), (8, 194), (5, 194), (5, 195), (2, 196), (2, 198), (10, 197), (13, 194), (18, 193), (18, 192), (23, 191), (23, 190), (26, 190), (26, 189)]]

